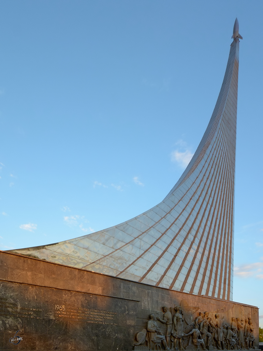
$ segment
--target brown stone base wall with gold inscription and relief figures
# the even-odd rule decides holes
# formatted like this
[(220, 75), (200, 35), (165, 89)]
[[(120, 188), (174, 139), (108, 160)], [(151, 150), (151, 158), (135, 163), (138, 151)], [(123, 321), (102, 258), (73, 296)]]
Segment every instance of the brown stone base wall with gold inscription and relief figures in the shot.
[[(232, 317), (243, 327), (244, 345), (259, 349), (255, 306), (4, 251), (0, 279), (3, 351), (202, 350), (206, 329), (213, 345), (223, 335), (228, 348), (238, 349)], [(209, 344), (208, 334), (203, 342)]]

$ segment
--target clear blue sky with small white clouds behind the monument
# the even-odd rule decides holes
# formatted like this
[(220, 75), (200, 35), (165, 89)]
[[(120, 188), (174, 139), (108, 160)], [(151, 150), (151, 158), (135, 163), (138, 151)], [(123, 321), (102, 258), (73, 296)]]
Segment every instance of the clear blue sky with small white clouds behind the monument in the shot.
[(263, 316), (263, 2), (2, 0), (0, 10), (1, 250), (159, 203), (211, 117), (238, 17), (234, 300)]

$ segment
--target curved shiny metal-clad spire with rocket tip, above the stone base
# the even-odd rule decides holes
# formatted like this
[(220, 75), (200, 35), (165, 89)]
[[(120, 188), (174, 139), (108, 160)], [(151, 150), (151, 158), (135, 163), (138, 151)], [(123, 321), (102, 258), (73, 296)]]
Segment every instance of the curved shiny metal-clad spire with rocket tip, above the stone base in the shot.
[(237, 26), (235, 22), (236, 37), (208, 127), (167, 197), (114, 227), (12, 252), (172, 290), (232, 299)]

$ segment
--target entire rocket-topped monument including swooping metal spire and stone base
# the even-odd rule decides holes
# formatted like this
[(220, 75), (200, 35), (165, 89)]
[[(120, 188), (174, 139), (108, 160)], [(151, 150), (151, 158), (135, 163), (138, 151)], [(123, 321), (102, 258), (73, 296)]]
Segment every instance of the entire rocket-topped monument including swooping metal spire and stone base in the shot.
[(79, 238), (1, 251), (0, 350), (258, 349), (232, 302), (239, 39), (203, 138), (164, 200)]

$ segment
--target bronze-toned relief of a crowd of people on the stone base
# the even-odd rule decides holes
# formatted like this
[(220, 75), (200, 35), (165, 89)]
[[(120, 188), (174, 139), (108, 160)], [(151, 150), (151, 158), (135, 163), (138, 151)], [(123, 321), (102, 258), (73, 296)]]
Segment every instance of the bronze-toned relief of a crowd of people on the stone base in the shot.
[(255, 349), (251, 317), (226, 318), (224, 313), (219, 313), (218, 310), (202, 312), (197, 311), (199, 308), (189, 308), (196, 311), (192, 312), (190, 317), (189, 312), (180, 306), (167, 305), (155, 312), (159, 314), (158, 317), (155, 317), (154, 313), (150, 314), (146, 329), (136, 333), (134, 350)]

